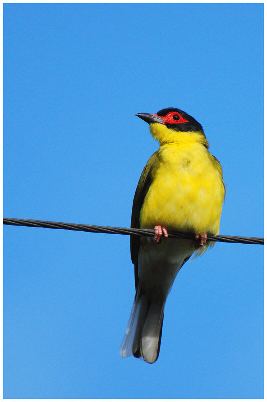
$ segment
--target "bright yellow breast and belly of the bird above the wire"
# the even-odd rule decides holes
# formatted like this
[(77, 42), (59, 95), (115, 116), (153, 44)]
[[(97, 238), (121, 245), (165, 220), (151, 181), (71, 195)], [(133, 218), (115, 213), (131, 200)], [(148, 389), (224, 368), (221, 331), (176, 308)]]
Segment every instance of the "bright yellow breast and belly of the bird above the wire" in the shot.
[(141, 228), (218, 234), (224, 185), (218, 162), (199, 142), (167, 143), (140, 211)]

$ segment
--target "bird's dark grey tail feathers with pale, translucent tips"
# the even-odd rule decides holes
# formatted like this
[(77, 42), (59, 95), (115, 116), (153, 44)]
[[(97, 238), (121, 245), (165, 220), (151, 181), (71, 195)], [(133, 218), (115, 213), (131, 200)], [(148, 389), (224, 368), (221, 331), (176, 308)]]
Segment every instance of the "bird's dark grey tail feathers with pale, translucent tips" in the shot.
[(154, 363), (159, 355), (165, 302), (151, 302), (139, 282), (127, 328), (121, 343), (122, 357)]

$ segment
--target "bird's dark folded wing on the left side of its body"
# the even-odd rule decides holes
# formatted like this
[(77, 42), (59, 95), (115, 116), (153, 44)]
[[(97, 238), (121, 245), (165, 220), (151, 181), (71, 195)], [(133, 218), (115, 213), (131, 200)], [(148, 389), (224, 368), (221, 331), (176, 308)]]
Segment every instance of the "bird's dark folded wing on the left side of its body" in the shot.
[[(133, 209), (132, 209), (132, 219), (131, 219), (131, 228), (140, 228), (140, 211), (142, 205), (144, 203), (145, 196), (147, 191), (153, 181), (153, 176), (155, 173), (155, 169), (158, 165), (159, 156), (158, 151), (155, 152), (145, 165), (141, 177), (139, 179), (134, 199), (133, 199)], [(135, 273), (135, 287), (138, 285), (138, 251), (140, 245), (140, 236), (131, 235), (130, 236), (130, 245), (131, 245), (131, 258), (132, 263), (134, 264), (134, 273)]]

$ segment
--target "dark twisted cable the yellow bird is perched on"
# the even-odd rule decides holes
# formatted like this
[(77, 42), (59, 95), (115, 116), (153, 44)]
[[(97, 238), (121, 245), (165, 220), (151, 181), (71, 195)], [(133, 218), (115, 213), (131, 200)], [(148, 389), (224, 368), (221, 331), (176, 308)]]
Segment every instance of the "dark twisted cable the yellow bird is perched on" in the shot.
[[(64, 223), (51, 221), (37, 221), (35, 219), (3, 218), (4, 225), (31, 226), (50, 229), (80, 230), (83, 232), (115, 233), (119, 235), (154, 236), (153, 229), (115, 228), (113, 226), (81, 225), (78, 223)], [(194, 239), (194, 233), (168, 231), (171, 238)], [(224, 243), (264, 244), (263, 237), (242, 237), (226, 235), (207, 235), (207, 240)]]

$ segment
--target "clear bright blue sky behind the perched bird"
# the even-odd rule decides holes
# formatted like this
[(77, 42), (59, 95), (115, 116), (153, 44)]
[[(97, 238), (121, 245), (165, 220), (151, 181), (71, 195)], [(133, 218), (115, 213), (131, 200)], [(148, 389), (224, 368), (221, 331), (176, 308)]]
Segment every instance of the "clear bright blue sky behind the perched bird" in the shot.
[[(263, 4), (4, 4), (4, 216), (129, 227), (185, 110), (221, 162), (221, 234), (263, 236)], [(4, 227), (5, 398), (262, 398), (263, 246), (217, 243), (168, 297), (158, 361), (119, 356), (129, 237)]]

